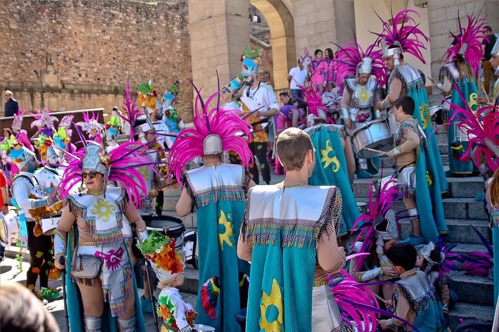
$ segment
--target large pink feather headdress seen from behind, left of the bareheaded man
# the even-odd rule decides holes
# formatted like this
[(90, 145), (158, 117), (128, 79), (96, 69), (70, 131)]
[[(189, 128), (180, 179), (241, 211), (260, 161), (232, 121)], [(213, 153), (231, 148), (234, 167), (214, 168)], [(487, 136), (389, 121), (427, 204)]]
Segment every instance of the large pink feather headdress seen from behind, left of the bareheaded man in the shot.
[[(211, 138), (221, 142), (221, 151), (237, 153), (242, 165), (247, 167), (253, 158), (247, 144), (251, 139), (250, 123), (241, 119), (236, 112), (223, 110), (219, 105), (208, 110), (211, 100), (219, 99), (220, 91), (212, 94), (205, 103), (200, 92), (196, 87), (194, 88), (197, 91), (194, 128), (182, 130), (173, 142), (169, 154), (171, 173), (180, 179), (184, 166), (190, 160), (205, 155), (205, 142)], [(199, 109), (198, 101), (201, 109)], [(248, 138), (243, 138), (240, 133)]]

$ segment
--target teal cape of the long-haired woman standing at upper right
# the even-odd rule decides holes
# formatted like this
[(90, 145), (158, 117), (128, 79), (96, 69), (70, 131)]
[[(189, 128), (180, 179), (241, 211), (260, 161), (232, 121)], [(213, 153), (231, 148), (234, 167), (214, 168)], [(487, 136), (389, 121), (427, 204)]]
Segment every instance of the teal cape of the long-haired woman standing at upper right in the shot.
[[(473, 81), (469, 82), (467, 78), (458, 80), (455, 79), (449, 72), (447, 66), (440, 68), (440, 81), (443, 81), (443, 77), (447, 77), (448, 80), (454, 85), (457, 85), (462, 95), (466, 98), (466, 102), (470, 106), (473, 112), (478, 109), (478, 88), (477, 84)], [(462, 108), (466, 108), (465, 102), (462, 100), (458, 91), (455, 87), (452, 88), (452, 96), (450, 100), (453, 104), (458, 105)], [(449, 113), (449, 118), (455, 115), (455, 108), (452, 108)], [(461, 114), (462, 116), (462, 114)], [(459, 120), (453, 120), (452, 123), (457, 123)], [(448, 134), (448, 151), (449, 151), (449, 169), (452, 174), (455, 175), (471, 175), (473, 173), (474, 163), (471, 159), (470, 154), (465, 155), (468, 149), (468, 141), (456, 141), (455, 134), (459, 131), (457, 126), (449, 126)], [(460, 161), (459, 158), (469, 157), (469, 161)]]

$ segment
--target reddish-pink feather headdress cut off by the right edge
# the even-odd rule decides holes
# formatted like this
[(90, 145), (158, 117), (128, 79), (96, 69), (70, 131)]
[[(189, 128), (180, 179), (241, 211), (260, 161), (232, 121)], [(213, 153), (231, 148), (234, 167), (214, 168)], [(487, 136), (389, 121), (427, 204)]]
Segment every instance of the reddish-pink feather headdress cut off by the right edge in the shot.
[(485, 106), (474, 111), (455, 84), (454, 89), (459, 93), (465, 108), (449, 103), (450, 109), (455, 110), (449, 123), (452, 123), (452, 120), (459, 120), (452, 125), (457, 126), (456, 130), (468, 133), (470, 141), (464, 156), (468, 156), (476, 147), (473, 157), (475, 164), (480, 167), (478, 158), (483, 153), (487, 166), (495, 172), (499, 167), (499, 107)]

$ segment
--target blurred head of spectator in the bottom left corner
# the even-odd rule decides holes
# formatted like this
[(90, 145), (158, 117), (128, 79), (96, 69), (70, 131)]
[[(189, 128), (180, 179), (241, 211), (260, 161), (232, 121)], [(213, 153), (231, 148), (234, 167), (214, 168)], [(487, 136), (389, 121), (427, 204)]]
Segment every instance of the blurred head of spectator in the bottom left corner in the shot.
[(40, 300), (17, 282), (2, 282), (0, 329), (3, 331), (59, 332), (59, 326)]

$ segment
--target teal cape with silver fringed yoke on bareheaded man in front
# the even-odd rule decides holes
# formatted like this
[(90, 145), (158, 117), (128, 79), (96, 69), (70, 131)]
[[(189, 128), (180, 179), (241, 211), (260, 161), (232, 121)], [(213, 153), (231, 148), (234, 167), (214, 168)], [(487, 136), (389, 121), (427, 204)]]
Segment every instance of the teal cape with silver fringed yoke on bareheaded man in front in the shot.
[[(250, 219), (251, 199), (255, 197), (250, 196), (255, 195), (252, 192), (261, 195), (260, 197), (265, 195), (266, 201), (270, 201), (269, 211), (272, 211), (277, 206), (272, 202), (276, 199), (275, 195), (286, 195), (288, 190), (270, 193), (260, 187), (273, 186), (250, 189), (241, 227), (242, 241), (253, 247), (246, 332), (310, 332), (317, 241), (333, 227), (339, 229), (341, 193), (335, 187), (299, 189), (302, 191), (301, 195), (328, 190), (325, 202), (317, 202), (317, 208), (324, 205), (318, 220), (294, 218), (299, 212), (290, 212), (290, 219), (260, 215)], [(305, 199), (308, 198), (310, 197)], [(281, 203), (288, 211), (296, 211), (298, 206), (296, 202), (288, 201), (287, 206), (285, 202)], [(273, 214), (277, 213), (279, 212), (273, 211)]]

